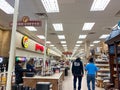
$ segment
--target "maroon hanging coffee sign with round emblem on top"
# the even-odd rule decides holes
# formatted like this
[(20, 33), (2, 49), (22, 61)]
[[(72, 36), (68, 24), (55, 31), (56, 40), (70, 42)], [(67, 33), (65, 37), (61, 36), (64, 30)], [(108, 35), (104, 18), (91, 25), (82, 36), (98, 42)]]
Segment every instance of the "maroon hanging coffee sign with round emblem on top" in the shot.
[[(13, 25), (13, 22), (10, 22), (10, 26)], [(17, 26), (42, 26), (40, 20), (30, 20), (28, 16), (23, 16), (21, 21), (17, 22)]]

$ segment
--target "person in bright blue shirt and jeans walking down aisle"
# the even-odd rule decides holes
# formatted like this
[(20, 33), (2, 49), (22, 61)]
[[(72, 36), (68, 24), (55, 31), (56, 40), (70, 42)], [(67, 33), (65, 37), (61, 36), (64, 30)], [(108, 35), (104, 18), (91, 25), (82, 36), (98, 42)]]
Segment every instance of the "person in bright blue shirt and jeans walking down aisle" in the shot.
[(94, 64), (94, 59), (90, 58), (89, 63), (86, 65), (85, 70), (87, 71), (87, 87), (90, 89), (90, 82), (92, 82), (92, 90), (95, 90), (95, 76), (96, 72), (99, 70)]

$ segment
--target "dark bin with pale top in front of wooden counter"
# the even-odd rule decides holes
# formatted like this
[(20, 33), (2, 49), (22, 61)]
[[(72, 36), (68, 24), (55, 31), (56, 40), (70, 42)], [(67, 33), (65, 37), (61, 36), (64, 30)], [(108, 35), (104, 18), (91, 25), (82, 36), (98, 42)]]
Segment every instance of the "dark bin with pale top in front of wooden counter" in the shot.
[(50, 82), (37, 82), (36, 90), (51, 90), (51, 83)]

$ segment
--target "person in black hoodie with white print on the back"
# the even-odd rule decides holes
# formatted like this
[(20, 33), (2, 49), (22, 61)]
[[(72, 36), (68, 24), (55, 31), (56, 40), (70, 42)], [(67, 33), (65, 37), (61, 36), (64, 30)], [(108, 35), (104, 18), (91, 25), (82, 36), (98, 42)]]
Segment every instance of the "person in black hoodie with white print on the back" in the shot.
[(83, 70), (83, 63), (81, 61), (81, 58), (79, 57), (77, 57), (77, 59), (73, 61), (72, 74), (74, 76), (73, 78), (74, 90), (76, 90), (77, 79), (78, 79), (78, 90), (81, 90), (81, 82), (82, 82), (82, 77), (84, 75), (84, 70)]

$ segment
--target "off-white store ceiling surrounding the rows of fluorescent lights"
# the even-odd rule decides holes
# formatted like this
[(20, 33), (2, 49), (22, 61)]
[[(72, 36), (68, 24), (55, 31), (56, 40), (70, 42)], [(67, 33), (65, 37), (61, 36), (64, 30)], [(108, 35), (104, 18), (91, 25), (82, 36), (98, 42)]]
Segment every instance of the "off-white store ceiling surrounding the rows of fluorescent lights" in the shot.
[[(14, 6), (15, 0), (6, 1)], [(57, 37), (57, 35), (64, 34), (67, 49), (69, 52), (73, 52), (76, 42), (80, 40), (78, 38), (79, 35), (87, 34), (86, 39), (81, 39), (83, 43), (78, 47), (77, 50), (79, 51), (84, 48), (86, 41), (89, 41), (91, 44), (95, 40), (104, 41), (104, 39), (99, 39), (99, 37), (102, 34), (109, 34), (111, 29), (108, 28), (113, 27), (120, 20), (120, 16), (116, 16), (116, 13), (120, 10), (120, 0), (111, 0), (104, 11), (96, 12), (90, 12), (92, 3), (93, 0), (58, 0), (60, 12), (46, 13), (41, 0), (20, 0), (18, 20), (21, 20), (23, 16), (29, 16), (31, 20), (41, 20), (42, 26), (36, 27), (37, 32), (30, 32), (24, 27), (18, 27), (17, 30), (43, 44), (44, 40), (40, 40), (36, 35), (44, 35), (45, 19), (36, 15), (36, 13), (46, 13), (48, 16), (47, 41), (50, 41), (57, 49), (64, 52), (60, 43), (63, 40), (59, 40)], [(0, 25), (11, 29), (9, 23), (12, 21), (12, 18), (13, 15), (8, 15), (0, 10)], [(92, 30), (82, 31), (85, 22), (95, 22)], [(52, 26), (53, 23), (62, 23), (63, 31), (56, 32)]]

